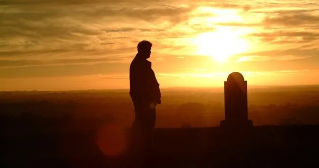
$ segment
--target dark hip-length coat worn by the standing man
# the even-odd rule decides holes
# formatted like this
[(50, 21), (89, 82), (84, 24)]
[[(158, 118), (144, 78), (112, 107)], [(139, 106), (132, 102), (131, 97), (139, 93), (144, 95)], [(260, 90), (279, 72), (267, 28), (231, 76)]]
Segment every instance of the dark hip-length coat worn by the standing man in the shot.
[(152, 63), (136, 54), (130, 65), (130, 96), (133, 103), (160, 104), (160, 84), (152, 69)]

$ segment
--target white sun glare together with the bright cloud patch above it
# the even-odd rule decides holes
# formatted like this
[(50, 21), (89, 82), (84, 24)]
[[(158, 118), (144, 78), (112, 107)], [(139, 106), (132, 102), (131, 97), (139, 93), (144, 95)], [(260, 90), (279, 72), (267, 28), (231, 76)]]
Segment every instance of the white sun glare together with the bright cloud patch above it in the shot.
[(195, 12), (213, 14), (213, 17), (207, 17), (202, 24), (216, 28), (215, 31), (200, 33), (194, 37), (195, 54), (211, 56), (217, 62), (224, 62), (231, 56), (246, 52), (250, 48), (249, 40), (242, 38), (248, 33), (247, 29), (239, 30), (215, 25), (220, 22), (241, 22), (242, 18), (237, 11), (199, 7)]

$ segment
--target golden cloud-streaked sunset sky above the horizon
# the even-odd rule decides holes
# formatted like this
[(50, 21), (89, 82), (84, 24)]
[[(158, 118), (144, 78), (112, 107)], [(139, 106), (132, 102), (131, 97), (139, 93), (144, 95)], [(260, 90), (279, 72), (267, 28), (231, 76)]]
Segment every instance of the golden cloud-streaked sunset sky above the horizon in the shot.
[(318, 0), (0, 0), (0, 90), (129, 88), (137, 43), (160, 87), (319, 84)]

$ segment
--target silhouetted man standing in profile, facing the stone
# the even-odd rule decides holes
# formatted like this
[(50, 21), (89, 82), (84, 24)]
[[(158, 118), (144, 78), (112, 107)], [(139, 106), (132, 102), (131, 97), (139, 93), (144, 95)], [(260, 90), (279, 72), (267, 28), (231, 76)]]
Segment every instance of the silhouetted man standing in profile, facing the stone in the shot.
[(160, 84), (147, 61), (152, 43), (141, 41), (130, 65), (130, 96), (135, 111), (132, 126), (132, 147), (135, 151), (149, 153), (152, 150), (152, 131), (156, 120), (156, 105), (161, 104)]

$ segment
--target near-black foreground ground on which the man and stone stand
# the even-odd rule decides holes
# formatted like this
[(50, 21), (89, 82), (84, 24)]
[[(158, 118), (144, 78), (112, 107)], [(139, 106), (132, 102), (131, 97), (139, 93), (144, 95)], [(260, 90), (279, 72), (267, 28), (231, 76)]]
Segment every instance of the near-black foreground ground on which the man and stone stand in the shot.
[[(130, 163), (126, 155), (105, 156), (92, 130), (28, 125), (2, 127), (1, 131), (2, 168), (125, 168)], [(154, 147), (158, 155), (152, 167), (318, 168), (318, 132), (319, 125), (258, 126), (241, 131), (157, 128)], [(108, 143), (120, 144), (118, 140)]]

